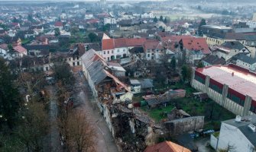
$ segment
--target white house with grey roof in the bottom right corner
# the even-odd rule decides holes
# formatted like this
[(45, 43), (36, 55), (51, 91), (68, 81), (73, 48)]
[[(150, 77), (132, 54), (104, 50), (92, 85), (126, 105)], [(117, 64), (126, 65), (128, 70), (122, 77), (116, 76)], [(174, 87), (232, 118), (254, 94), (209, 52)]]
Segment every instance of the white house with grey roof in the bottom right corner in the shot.
[(219, 136), (211, 137), (215, 150), (254, 152), (256, 147), (256, 115), (236, 116), (222, 122)]

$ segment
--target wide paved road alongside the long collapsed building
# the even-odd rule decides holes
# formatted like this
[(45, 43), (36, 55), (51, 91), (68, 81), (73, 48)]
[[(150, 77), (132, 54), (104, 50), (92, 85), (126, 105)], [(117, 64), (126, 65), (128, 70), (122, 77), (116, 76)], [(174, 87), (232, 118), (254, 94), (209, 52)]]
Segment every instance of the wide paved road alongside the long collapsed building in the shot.
[[(105, 120), (99, 112), (99, 109), (93, 108), (92, 104), (92, 93), (89, 90), (89, 85), (81, 75), (76, 74), (76, 84), (81, 87), (81, 90), (78, 91), (76, 101), (79, 103), (79, 109), (82, 109), (83, 112), (87, 113), (89, 119), (95, 124), (97, 132), (97, 144), (96, 151), (98, 152), (117, 152), (118, 148), (115, 144), (112, 134), (109, 131), (109, 128), (106, 125)], [(74, 103), (77, 104), (77, 103)]]

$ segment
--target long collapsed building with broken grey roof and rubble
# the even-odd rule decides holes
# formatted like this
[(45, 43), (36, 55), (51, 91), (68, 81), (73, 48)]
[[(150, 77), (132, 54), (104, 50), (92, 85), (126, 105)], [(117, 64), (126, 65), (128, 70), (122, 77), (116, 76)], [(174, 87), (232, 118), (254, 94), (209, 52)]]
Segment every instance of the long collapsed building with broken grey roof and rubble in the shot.
[(96, 105), (122, 151), (143, 151), (146, 145), (155, 144), (154, 122), (132, 106), (133, 93), (115, 75), (115, 69), (95, 50), (82, 56), (83, 74), (95, 97)]

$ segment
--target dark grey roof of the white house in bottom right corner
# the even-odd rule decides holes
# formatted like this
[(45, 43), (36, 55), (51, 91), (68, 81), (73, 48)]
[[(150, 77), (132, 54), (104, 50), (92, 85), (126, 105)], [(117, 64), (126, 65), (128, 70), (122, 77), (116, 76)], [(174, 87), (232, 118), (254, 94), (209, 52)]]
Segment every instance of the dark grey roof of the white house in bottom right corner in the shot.
[(241, 122), (235, 122), (235, 119), (230, 119), (223, 121), (222, 123), (237, 127), (245, 137), (248, 138), (251, 144), (256, 146), (256, 131), (251, 131), (248, 127), (250, 124), (256, 125), (256, 115), (242, 117)]

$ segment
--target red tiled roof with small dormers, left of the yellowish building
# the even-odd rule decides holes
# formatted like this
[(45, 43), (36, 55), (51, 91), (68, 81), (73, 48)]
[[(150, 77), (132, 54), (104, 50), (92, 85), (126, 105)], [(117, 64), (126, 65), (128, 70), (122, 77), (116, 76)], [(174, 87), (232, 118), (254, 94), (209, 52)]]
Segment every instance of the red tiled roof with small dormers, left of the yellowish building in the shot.
[(181, 40), (183, 48), (188, 50), (201, 50), (203, 54), (210, 54), (211, 51), (205, 38), (187, 37)]

